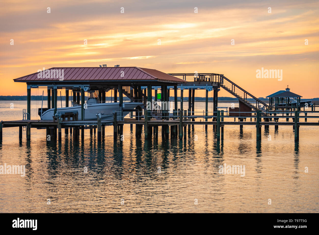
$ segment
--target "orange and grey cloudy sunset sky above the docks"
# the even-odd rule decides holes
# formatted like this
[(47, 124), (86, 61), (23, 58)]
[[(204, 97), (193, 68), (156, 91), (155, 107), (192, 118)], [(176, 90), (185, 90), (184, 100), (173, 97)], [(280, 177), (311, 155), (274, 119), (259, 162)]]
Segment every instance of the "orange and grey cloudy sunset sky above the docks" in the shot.
[[(1, 4), (0, 95), (26, 95), (26, 84), (13, 79), (43, 67), (120, 64), (167, 73), (221, 73), (257, 97), (287, 85), (303, 98), (319, 97), (318, 1)], [(262, 67), (282, 69), (282, 81), (256, 78)], [(221, 91), (219, 96), (231, 95)]]

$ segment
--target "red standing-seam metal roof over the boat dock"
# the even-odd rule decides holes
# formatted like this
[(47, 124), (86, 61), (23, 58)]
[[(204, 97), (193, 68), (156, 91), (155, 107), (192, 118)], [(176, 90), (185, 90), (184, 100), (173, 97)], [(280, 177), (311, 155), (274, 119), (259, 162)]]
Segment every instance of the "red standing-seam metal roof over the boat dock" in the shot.
[[(186, 81), (167, 73), (138, 67), (54, 67), (47, 70), (63, 70), (63, 81), (158, 80), (186, 83)], [(38, 74), (39, 72), (36, 72), (13, 80), (15, 82), (59, 81), (59, 78), (51, 76), (38, 78)]]

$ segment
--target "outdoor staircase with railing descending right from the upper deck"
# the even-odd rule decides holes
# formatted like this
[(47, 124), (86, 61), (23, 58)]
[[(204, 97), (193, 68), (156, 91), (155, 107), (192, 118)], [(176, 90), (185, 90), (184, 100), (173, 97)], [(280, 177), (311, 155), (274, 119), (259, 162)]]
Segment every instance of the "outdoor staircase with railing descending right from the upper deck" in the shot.
[(251, 95), (222, 74), (220, 74), (220, 86), (253, 110), (260, 110), (262, 111), (261, 114), (266, 116), (266, 111), (269, 107), (266, 103)]

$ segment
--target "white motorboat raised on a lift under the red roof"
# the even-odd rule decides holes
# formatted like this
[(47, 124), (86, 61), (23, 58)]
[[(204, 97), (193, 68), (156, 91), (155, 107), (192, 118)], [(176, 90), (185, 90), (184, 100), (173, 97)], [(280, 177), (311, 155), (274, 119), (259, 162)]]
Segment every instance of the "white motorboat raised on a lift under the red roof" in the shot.
[[(65, 113), (77, 113), (78, 120), (81, 120), (82, 117), (82, 109), (81, 105), (77, 104), (77, 102), (71, 102), (72, 107), (64, 107), (57, 108), (58, 114)], [(113, 121), (114, 113), (117, 114), (117, 120), (123, 120), (123, 118), (128, 115), (133, 109), (135, 109), (139, 105), (144, 105), (139, 102), (123, 102), (123, 107), (121, 109), (119, 102), (105, 102), (101, 103), (97, 95), (94, 93), (90, 93), (90, 97), (84, 103), (84, 120), (96, 120), (96, 114), (101, 114), (102, 121)], [(41, 114), (42, 113), (42, 114)], [(55, 116), (54, 109), (39, 109), (39, 116), (41, 120), (53, 120), (53, 116)]]

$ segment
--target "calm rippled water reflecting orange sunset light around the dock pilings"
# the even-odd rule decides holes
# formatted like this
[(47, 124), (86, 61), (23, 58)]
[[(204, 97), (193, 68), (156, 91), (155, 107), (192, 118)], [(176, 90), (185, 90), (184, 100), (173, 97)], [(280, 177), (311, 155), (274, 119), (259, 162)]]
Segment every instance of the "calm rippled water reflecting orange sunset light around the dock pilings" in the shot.
[[(41, 102), (31, 104), (31, 119), (38, 119)], [(204, 103), (196, 107), (200, 112)], [(0, 101), (0, 120), (22, 119), (23, 108), (26, 101)], [(0, 165), (26, 165), (26, 176), (0, 174), (0, 212), (319, 211), (319, 127), (301, 126), (298, 144), (292, 126), (262, 128), (261, 145), (255, 126), (245, 125), (226, 126), (220, 143), (212, 126), (202, 125), (181, 142), (162, 141), (159, 127), (158, 140), (145, 143), (130, 125), (117, 143), (106, 127), (101, 145), (89, 130), (78, 142), (63, 131), (61, 144), (36, 129), (29, 143), (25, 132), (19, 142), (18, 132), (4, 128)], [(245, 176), (219, 174), (225, 163), (245, 165)]]

